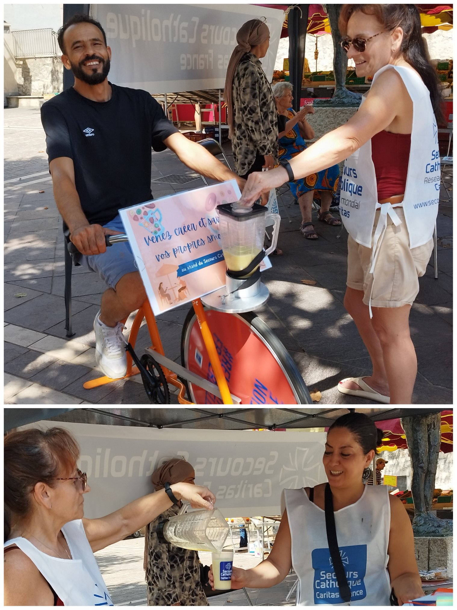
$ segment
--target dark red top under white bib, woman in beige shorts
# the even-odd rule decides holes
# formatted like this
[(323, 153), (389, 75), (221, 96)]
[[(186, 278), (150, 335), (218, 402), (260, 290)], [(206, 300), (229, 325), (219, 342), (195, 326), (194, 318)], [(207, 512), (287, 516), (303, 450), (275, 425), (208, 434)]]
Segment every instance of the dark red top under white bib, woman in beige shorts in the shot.
[(378, 201), (405, 193), (410, 148), (411, 134), (380, 131), (371, 138)]

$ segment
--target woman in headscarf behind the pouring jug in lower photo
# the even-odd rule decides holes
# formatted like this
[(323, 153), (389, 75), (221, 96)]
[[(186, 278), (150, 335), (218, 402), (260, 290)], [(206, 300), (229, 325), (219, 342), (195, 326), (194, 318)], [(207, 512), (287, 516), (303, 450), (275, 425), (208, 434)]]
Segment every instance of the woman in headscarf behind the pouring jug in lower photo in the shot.
[[(155, 491), (166, 483), (194, 484), (195, 472), (183, 458), (174, 458), (152, 473)], [(200, 560), (197, 551), (173, 547), (157, 537), (157, 525), (180, 511), (173, 505), (146, 527), (144, 569), (147, 582), (148, 606), (209, 606), (200, 581)]]

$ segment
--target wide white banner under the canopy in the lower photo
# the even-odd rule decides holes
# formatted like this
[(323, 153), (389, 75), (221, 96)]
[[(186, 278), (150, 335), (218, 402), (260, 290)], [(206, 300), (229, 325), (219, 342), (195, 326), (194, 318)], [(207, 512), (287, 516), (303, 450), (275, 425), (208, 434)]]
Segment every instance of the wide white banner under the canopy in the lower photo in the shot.
[(283, 489), (327, 481), (325, 432), (157, 430), (49, 421), (24, 428), (52, 426), (68, 429), (79, 443), (78, 466), (91, 487), (84, 513), (92, 519), (154, 491), (152, 473), (177, 456), (193, 465), (196, 483), (211, 489), (225, 517), (278, 515)]

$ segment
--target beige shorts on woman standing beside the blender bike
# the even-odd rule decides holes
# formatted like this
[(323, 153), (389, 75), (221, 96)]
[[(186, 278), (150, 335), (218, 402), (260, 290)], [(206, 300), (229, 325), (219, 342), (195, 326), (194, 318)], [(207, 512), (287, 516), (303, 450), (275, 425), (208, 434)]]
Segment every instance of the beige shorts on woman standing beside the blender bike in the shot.
[[(418, 248), (409, 249), (409, 235), (402, 207), (395, 207), (402, 221), (399, 226), (387, 218), (387, 227), (374, 268), (371, 267), (372, 248), (347, 239), (347, 282), (349, 288), (363, 290), (363, 302), (372, 307), (402, 307), (412, 305), (419, 292), (419, 279), (427, 269), (433, 250), (433, 239)], [(372, 240), (380, 216), (376, 210)], [(373, 241), (372, 241), (373, 244)], [(374, 281), (373, 281), (373, 278)], [(373, 288), (373, 291), (372, 291)]]

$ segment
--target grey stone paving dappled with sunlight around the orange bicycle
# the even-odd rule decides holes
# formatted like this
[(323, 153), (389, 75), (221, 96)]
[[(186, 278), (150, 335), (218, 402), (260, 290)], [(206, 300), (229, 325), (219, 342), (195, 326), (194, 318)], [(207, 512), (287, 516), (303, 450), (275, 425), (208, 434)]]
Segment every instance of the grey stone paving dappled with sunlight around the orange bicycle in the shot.
[[(4, 110), (4, 370), (6, 404), (149, 404), (138, 376), (85, 390), (83, 382), (100, 375), (94, 360), (93, 320), (105, 286), (83, 267), (73, 270), (74, 337), (65, 336), (64, 250), (61, 220), (52, 195), (44, 132), (38, 109)], [(230, 162), (230, 144), (224, 145)], [(189, 174), (171, 151), (153, 153), (155, 198), (203, 186), (200, 178), (185, 185), (154, 182), (169, 174)], [(452, 187), (452, 167), (445, 170)], [(416, 404), (452, 403), (453, 210), (441, 190), (438, 213), (438, 280), (433, 258), (419, 279), (411, 310), (416, 346)], [(270, 299), (257, 313), (289, 350), (320, 404), (374, 404), (345, 397), (339, 379), (369, 375), (369, 357), (342, 304), (345, 290), (347, 234), (317, 223), (319, 239), (297, 231), (299, 207), (290, 193), (280, 205), (278, 247), (263, 281)], [(289, 218), (291, 221), (289, 221)], [(317, 220), (317, 219), (316, 219)], [(303, 284), (303, 280), (316, 282)], [(180, 360), (180, 334), (188, 306), (158, 316), (166, 354)], [(130, 328), (133, 317), (127, 322)], [(142, 326), (137, 353), (149, 344)], [(175, 393), (171, 401), (177, 403)]]

